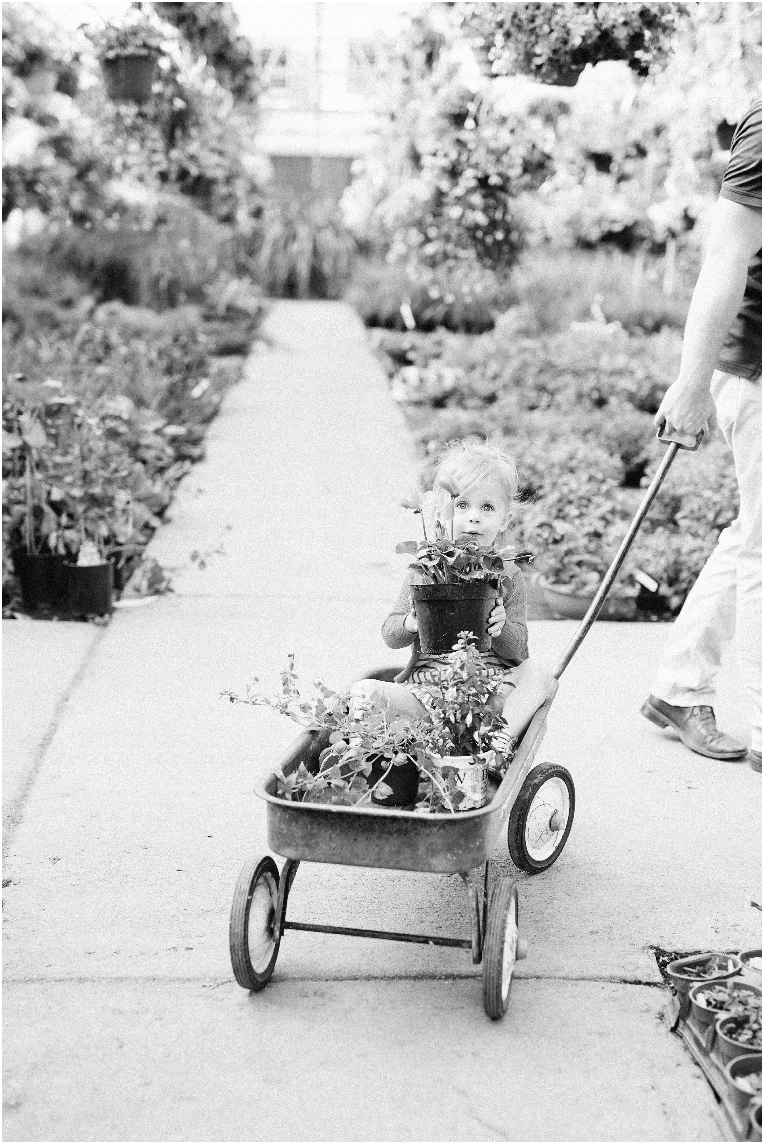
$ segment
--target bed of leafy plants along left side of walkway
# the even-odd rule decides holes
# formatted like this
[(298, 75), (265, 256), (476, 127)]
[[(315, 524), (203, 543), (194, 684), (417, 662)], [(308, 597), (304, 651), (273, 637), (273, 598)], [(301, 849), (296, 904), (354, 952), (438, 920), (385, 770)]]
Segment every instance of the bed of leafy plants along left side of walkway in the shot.
[(56, 329), (6, 340), (3, 567), (24, 532), (17, 442), (29, 419), (46, 437), (35, 467), (38, 538), (58, 551), (77, 551), (83, 539), (106, 553), (142, 549), (176, 483), (204, 455), (205, 427), (239, 374), (241, 358), (210, 359), (204, 329), (194, 307), (134, 313), (111, 302), (73, 337)]

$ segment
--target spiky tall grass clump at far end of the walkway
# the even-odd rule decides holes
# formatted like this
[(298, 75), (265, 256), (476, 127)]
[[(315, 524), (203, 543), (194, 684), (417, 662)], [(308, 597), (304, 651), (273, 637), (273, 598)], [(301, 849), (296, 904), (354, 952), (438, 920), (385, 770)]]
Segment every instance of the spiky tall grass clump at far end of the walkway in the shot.
[(336, 206), (297, 198), (270, 202), (239, 255), (277, 297), (340, 297), (355, 256), (356, 240)]

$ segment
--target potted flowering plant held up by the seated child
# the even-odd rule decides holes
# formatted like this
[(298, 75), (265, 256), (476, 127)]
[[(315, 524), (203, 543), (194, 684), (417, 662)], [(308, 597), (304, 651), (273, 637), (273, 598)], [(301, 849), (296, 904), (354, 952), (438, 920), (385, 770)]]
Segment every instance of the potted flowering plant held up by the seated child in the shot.
[(451, 522), (451, 539), (445, 535), (440, 521), (435, 523), (435, 539), (428, 537), (425, 496), (419, 490), (400, 502), (422, 518), (423, 541), (405, 540), (396, 546), (396, 553), (414, 556), (409, 567), (422, 578), (422, 582), (412, 585), (411, 589), (422, 653), (447, 656), (462, 631), (475, 635), (478, 652), (487, 651), (491, 646), (487, 620), (501, 582), (509, 574), (508, 565), (532, 557), (511, 547), (496, 549), (479, 545), (473, 537), (454, 539), (453, 506), (459, 490), (449, 480), (443, 480), (441, 485), (451, 498), (445, 509), (446, 526)]

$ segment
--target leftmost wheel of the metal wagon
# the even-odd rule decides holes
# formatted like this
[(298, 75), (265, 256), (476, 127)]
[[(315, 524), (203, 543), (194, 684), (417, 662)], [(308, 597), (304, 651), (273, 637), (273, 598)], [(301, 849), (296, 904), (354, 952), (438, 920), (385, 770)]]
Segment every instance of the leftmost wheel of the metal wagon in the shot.
[(264, 990), (279, 953), (274, 930), (279, 871), (264, 856), (245, 863), (233, 891), (229, 942), (233, 976), (245, 990)]

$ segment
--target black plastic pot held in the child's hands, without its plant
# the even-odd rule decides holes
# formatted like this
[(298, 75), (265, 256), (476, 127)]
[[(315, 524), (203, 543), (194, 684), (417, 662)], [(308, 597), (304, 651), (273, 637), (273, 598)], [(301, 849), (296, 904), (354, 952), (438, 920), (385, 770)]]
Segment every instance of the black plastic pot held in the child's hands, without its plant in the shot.
[(478, 637), (478, 651), (488, 651), (487, 620), (500, 595), (490, 580), (415, 583), (411, 593), (424, 656), (447, 656), (460, 631), (471, 631)]

